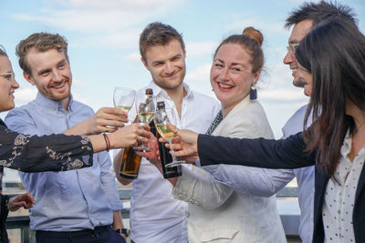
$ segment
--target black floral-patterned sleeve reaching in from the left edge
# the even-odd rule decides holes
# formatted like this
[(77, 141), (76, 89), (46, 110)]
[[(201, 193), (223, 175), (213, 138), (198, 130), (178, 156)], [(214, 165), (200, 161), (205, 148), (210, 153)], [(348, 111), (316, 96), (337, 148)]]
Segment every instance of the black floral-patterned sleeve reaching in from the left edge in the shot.
[(88, 137), (27, 136), (0, 125), (0, 166), (24, 172), (66, 171), (92, 166)]

